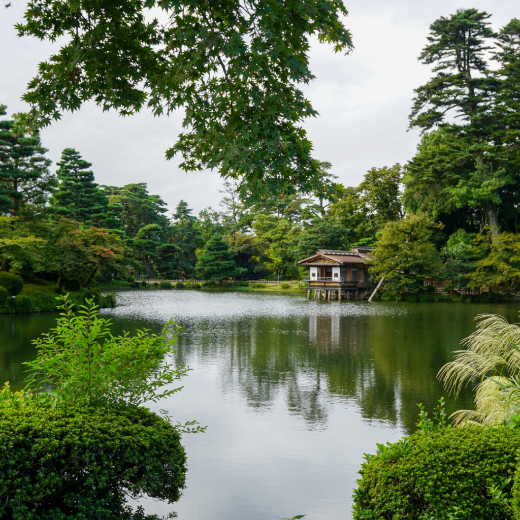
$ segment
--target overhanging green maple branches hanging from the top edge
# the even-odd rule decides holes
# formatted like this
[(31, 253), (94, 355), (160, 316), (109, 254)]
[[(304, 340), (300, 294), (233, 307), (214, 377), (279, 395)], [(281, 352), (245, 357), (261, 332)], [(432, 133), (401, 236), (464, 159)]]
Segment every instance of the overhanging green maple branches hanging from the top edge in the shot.
[(255, 195), (320, 189), (300, 126), (316, 111), (298, 86), (314, 77), (310, 37), (352, 48), (346, 14), (340, 0), (32, 0), (19, 34), (68, 43), (40, 63), (21, 124), (41, 128), (89, 99), (121, 114), (184, 108), (186, 130), (167, 151), (181, 168), (217, 168)]

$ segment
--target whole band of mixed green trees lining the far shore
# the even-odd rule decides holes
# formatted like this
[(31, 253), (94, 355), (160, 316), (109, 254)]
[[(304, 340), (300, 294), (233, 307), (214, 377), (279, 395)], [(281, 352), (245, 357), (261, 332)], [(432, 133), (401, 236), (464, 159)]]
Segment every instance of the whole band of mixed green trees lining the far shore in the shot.
[[(520, 22), (495, 31), (488, 14), (460, 10), (431, 25), (410, 126), (422, 129), (405, 165), (372, 168), (357, 187), (251, 192), (224, 183), (218, 209), (180, 200), (168, 217), (146, 183), (95, 183), (79, 151), (51, 173), (37, 135), (0, 122), (1, 270), (88, 287), (149, 278), (300, 279), (318, 249), (374, 246), (371, 275), (388, 295), (428, 290), (515, 294), (520, 287)], [(2, 115), (6, 107), (2, 106)], [(326, 189), (323, 188), (326, 187)], [(425, 285), (426, 282), (426, 285)], [(426, 287), (426, 289), (424, 289)]]

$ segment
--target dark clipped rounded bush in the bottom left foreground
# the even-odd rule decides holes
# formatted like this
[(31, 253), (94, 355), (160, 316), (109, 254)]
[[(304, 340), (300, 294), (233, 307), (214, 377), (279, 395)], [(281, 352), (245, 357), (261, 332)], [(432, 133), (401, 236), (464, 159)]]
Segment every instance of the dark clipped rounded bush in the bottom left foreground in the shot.
[(145, 520), (123, 489), (174, 502), (185, 487), (180, 435), (144, 408), (2, 408), (0, 517)]

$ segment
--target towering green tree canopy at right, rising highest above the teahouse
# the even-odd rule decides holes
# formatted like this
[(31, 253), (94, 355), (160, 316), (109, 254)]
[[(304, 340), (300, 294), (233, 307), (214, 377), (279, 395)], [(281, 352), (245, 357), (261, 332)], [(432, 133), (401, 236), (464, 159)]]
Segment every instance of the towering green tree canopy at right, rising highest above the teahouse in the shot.
[[(435, 217), (462, 211), (498, 233), (504, 193), (519, 186), (512, 154), (520, 146), (520, 119), (512, 84), (520, 34), (515, 21), (493, 32), (489, 17), (476, 9), (458, 10), (430, 27), (419, 59), (433, 64), (436, 75), (415, 90), (410, 125), (423, 130), (437, 125), (442, 131), (425, 138), (411, 161), (405, 199), (412, 211)], [(493, 38), (498, 47), (491, 46)], [(501, 67), (496, 72), (486, 59), (490, 51)]]

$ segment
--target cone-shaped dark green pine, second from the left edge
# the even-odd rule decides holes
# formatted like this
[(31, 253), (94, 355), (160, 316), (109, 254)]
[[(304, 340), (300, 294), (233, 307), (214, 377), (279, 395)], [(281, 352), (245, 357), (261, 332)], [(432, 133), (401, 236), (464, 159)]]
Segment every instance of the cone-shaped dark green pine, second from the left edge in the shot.
[(66, 148), (57, 165), (60, 184), (50, 199), (55, 213), (82, 223), (102, 225), (109, 214), (108, 199), (94, 182), (94, 173), (87, 170), (92, 163), (83, 160), (73, 148)]

